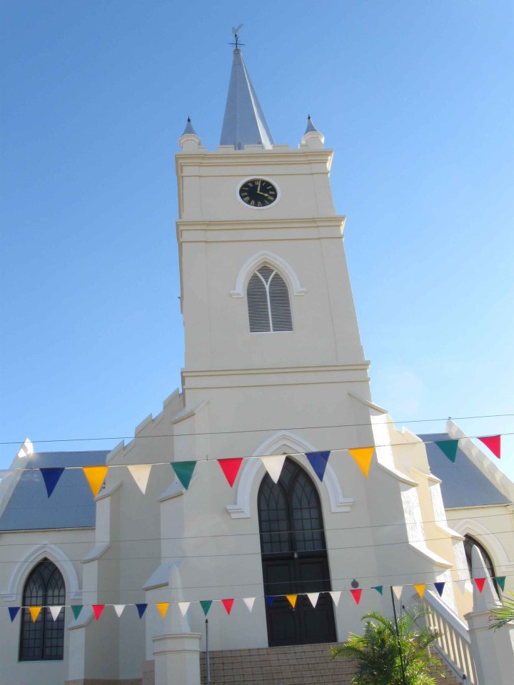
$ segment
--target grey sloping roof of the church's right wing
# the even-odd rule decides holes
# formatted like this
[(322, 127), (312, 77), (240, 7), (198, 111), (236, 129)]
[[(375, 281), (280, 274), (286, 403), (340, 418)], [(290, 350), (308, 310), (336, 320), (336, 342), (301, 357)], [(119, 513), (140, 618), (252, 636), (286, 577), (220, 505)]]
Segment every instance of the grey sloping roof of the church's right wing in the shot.
[(478, 507), (482, 504), (509, 504), (510, 500), (483, 475), (468, 455), (458, 447), (455, 463), (435, 445), (434, 440), (450, 440), (446, 433), (419, 435), (425, 442), (430, 471), (442, 480), (445, 507)]

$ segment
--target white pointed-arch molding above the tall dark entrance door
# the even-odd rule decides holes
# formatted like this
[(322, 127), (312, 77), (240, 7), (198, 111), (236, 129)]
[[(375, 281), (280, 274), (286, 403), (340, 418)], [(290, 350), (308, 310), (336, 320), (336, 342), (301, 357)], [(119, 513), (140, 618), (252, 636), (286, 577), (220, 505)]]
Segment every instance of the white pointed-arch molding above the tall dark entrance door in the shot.
[[(281, 431), (272, 435), (267, 440), (261, 443), (257, 450), (253, 452), (253, 457), (261, 457), (273, 455), (274, 452), (281, 449), (283, 445), (291, 448), (293, 453), (292, 459), (298, 461), (299, 464), (311, 475), (313, 482), (318, 487), (318, 477), (314, 473), (311, 465), (305, 456), (305, 452), (316, 452), (316, 447), (310, 445), (306, 440), (302, 440), (297, 435), (289, 431)], [(246, 460), (243, 466), (241, 476), (239, 477), (236, 504), (228, 504), (226, 509), (233, 519), (248, 519), (251, 517), (251, 494), (256, 480), (260, 483), (263, 476), (266, 474), (266, 468), (260, 459)], [(338, 481), (336, 472), (330, 464), (326, 465), (325, 476), (323, 477), (323, 485), (326, 487), (328, 499), (331, 503), (331, 512), (349, 512), (353, 505), (352, 497), (344, 497), (341, 489), (341, 484)]]

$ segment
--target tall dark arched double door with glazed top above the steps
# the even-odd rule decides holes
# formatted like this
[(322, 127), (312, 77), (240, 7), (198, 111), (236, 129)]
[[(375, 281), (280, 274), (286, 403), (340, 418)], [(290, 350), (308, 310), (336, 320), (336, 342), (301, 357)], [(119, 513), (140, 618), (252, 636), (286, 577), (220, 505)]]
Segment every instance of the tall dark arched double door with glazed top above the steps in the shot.
[[(269, 646), (336, 641), (321, 502), (311, 477), (287, 458), (274, 483), (258, 491), (264, 594)], [(322, 592), (316, 608), (303, 593)], [(298, 594), (293, 609), (286, 594)]]

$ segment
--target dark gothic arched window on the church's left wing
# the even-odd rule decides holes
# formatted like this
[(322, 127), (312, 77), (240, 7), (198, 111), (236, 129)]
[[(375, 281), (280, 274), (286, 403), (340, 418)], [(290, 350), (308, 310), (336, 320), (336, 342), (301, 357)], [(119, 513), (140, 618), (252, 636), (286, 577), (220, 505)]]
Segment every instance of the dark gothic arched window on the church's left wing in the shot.
[[(21, 610), (20, 661), (63, 659), (64, 607), (56, 621), (52, 619), (52, 605), (63, 606), (66, 589), (61, 572), (49, 559), (43, 559), (26, 579)], [(32, 621), (27, 607), (43, 607), (36, 621)]]

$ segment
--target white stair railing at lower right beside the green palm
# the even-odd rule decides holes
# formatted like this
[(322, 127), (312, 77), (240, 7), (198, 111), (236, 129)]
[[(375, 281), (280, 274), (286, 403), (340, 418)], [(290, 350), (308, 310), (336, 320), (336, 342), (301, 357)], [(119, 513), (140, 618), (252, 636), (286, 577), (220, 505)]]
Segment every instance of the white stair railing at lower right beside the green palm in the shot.
[(440, 634), (433, 646), (441, 661), (446, 661), (466, 685), (478, 685), (467, 624), (432, 592), (425, 592), (423, 600), (430, 611), (428, 626)]

